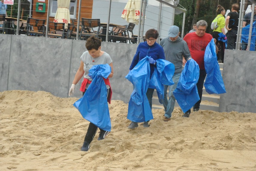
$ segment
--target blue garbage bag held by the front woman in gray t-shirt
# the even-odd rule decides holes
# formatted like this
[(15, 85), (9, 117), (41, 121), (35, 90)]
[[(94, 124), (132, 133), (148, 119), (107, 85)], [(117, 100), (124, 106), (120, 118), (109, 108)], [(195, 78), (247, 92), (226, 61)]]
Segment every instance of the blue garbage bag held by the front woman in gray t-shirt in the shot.
[(107, 102), (107, 88), (103, 80), (111, 73), (108, 64), (94, 65), (89, 70), (93, 79), (84, 96), (73, 105), (79, 110), (84, 119), (92, 122), (97, 127), (111, 131), (111, 122)]

